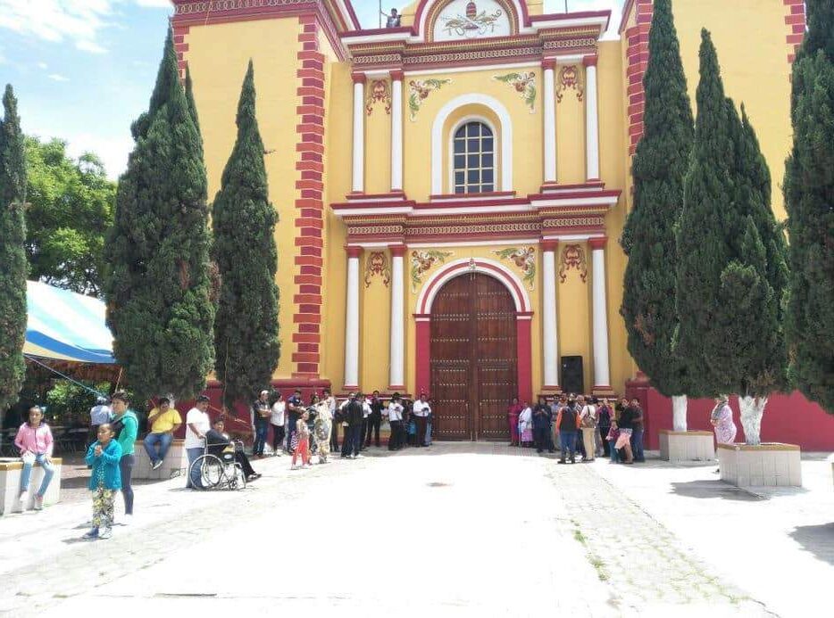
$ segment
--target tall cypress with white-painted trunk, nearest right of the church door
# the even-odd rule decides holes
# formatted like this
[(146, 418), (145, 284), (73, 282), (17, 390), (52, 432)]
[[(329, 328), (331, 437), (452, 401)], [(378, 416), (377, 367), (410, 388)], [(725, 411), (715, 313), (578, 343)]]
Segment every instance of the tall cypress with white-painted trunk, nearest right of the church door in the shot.
[(677, 325), (674, 227), (683, 208), (694, 127), (671, 0), (655, 1), (648, 50), (645, 128), (631, 165), (634, 208), (621, 237), (629, 263), (620, 313), (631, 356), (655, 388), (673, 398), (675, 431), (686, 431), (688, 372), (671, 340)]

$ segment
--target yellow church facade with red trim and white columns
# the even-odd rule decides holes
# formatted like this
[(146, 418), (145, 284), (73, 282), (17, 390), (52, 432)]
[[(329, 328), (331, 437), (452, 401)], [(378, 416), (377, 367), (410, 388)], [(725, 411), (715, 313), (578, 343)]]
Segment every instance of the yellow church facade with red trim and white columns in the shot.
[[(349, 0), (173, 1), (210, 195), (254, 62), (279, 213), (279, 388), (427, 391), (457, 439), (503, 438), (513, 396), (623, 391), (637, 367), (618, 240), (651, 0), (622, 15), (417, 0), (386, 29), (361, 29)], [(783, 217), (802, 0), (675, 0), (674, 13), (693, 107), (705, 27)]]

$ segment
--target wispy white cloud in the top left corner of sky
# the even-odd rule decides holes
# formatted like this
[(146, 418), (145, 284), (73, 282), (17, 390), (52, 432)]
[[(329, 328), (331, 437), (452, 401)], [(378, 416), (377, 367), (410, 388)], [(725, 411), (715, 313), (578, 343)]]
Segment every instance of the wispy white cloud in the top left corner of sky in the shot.
[(0, 0), (0, 29), (101, 54), (96, 39), (112, 14), (113, 0)]

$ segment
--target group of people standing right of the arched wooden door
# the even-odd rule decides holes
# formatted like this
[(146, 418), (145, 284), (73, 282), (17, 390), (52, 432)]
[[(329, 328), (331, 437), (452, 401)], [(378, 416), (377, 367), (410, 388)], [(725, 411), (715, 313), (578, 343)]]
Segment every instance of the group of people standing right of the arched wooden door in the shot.
[(614, 463), (646, 461), (643, 453), (643, 410), (637, 399), (613, 402), (584, 395), (563, 394), (535, 406), (513, 399), (507, 409), (510, 445), (535, 448), (538, 453), (561, 450), (560, 464), (611, 457)]

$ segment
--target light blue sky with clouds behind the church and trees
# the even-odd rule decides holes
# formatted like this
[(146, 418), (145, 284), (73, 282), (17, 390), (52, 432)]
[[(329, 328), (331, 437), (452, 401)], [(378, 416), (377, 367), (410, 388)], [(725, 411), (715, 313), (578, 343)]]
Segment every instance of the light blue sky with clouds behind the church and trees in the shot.
[[(376, 28), (378, 0), (353, 4), (363, 27)], [(568, 0), (571, 11), (618, 11), (621, 4)], [(546, 0), (547, 12), (563, 10), (564, 0)], [(60, 137), (74, 155), (96, 152), (118, 177), (132, 148), (130, 123), (154, 86), (171, 12), (169, 0), (0, 0), (0, 86), (13, 84), (23, 130)], [(619, 21), (612, 22), (616, 28)]]

